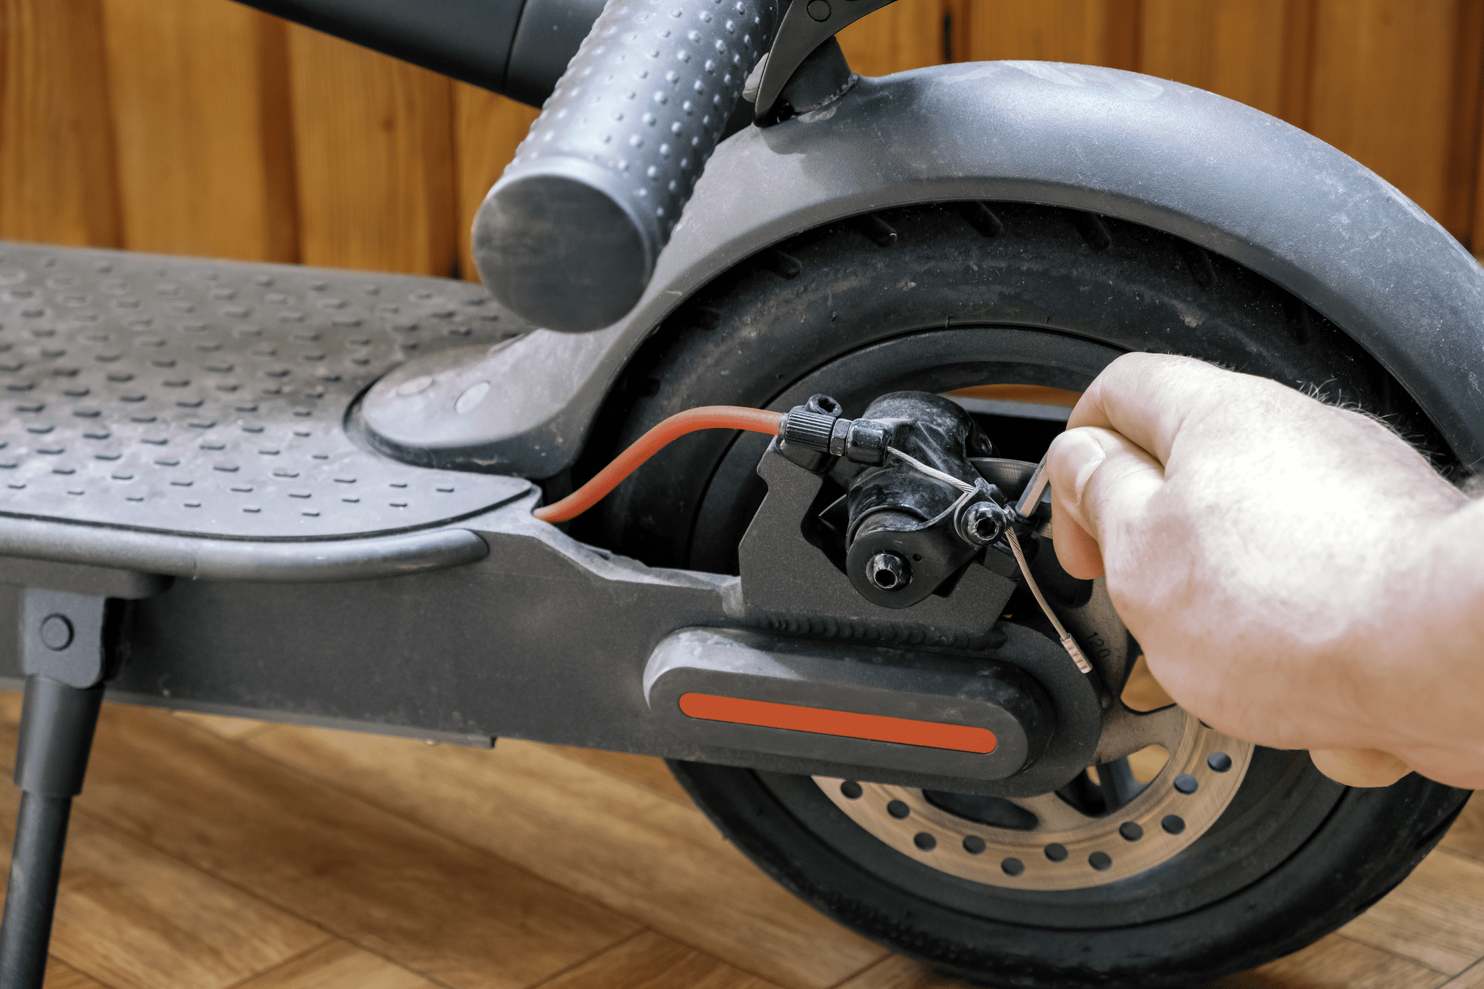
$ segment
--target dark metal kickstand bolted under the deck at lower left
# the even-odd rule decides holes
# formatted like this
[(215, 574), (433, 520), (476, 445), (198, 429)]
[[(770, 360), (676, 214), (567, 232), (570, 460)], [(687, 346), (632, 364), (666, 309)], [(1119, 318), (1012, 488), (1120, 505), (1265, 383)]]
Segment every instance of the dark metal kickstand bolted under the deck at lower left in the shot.
[(21, 658), (25, 700), (15, 755), (21, 787), (4, 919), (0, 989), (42, 989), (73, 798), (83, 789), (122, 601), (27, 590)]

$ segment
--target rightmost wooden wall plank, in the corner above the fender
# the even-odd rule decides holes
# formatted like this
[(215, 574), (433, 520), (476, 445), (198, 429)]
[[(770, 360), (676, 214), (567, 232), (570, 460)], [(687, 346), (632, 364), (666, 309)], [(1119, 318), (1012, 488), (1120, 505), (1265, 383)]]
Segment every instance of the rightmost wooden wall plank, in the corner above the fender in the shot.
[(1319, 0), (1309, 129), (1466, 237), (1481, 0)]

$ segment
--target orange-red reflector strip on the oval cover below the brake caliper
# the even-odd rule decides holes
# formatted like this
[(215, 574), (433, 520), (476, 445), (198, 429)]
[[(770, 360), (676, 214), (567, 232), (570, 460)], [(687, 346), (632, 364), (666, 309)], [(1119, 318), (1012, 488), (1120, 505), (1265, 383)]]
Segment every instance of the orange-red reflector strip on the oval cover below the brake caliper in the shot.
[(843, 735), (868, 741), (899, 741), (926, 749), (954, 752), (994, 752), (994, 732), (969, 725), (945, 725), (936, 721), (861, 715), (852, 710), (776, 704), (766, 700), (718, 697), (715, 694), (681, 694), (680, 710), (700, 721), (726, 721), (735, 725), (760, 725), (809, 731), (816, 735)]

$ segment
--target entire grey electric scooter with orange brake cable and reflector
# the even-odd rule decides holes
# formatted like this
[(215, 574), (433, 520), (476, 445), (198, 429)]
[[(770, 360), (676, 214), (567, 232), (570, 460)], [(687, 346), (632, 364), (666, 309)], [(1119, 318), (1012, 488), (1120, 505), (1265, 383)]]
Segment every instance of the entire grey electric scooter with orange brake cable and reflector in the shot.
[[(542, 117), (445, 279), (0, 246), (0, 985), (111, 700), (665, 758), (792, 893), (996, 986), (1187, 986), (1399, 882), (1379, 790), (1126, 687), (1039, 472), (1175, 351), (1484, 458), (1484, 271), (1306, 133), (1085, 65), (850, 71), (886, 0), (255, 0)], [(600, 12), (601, 9), (601, 12)]]

